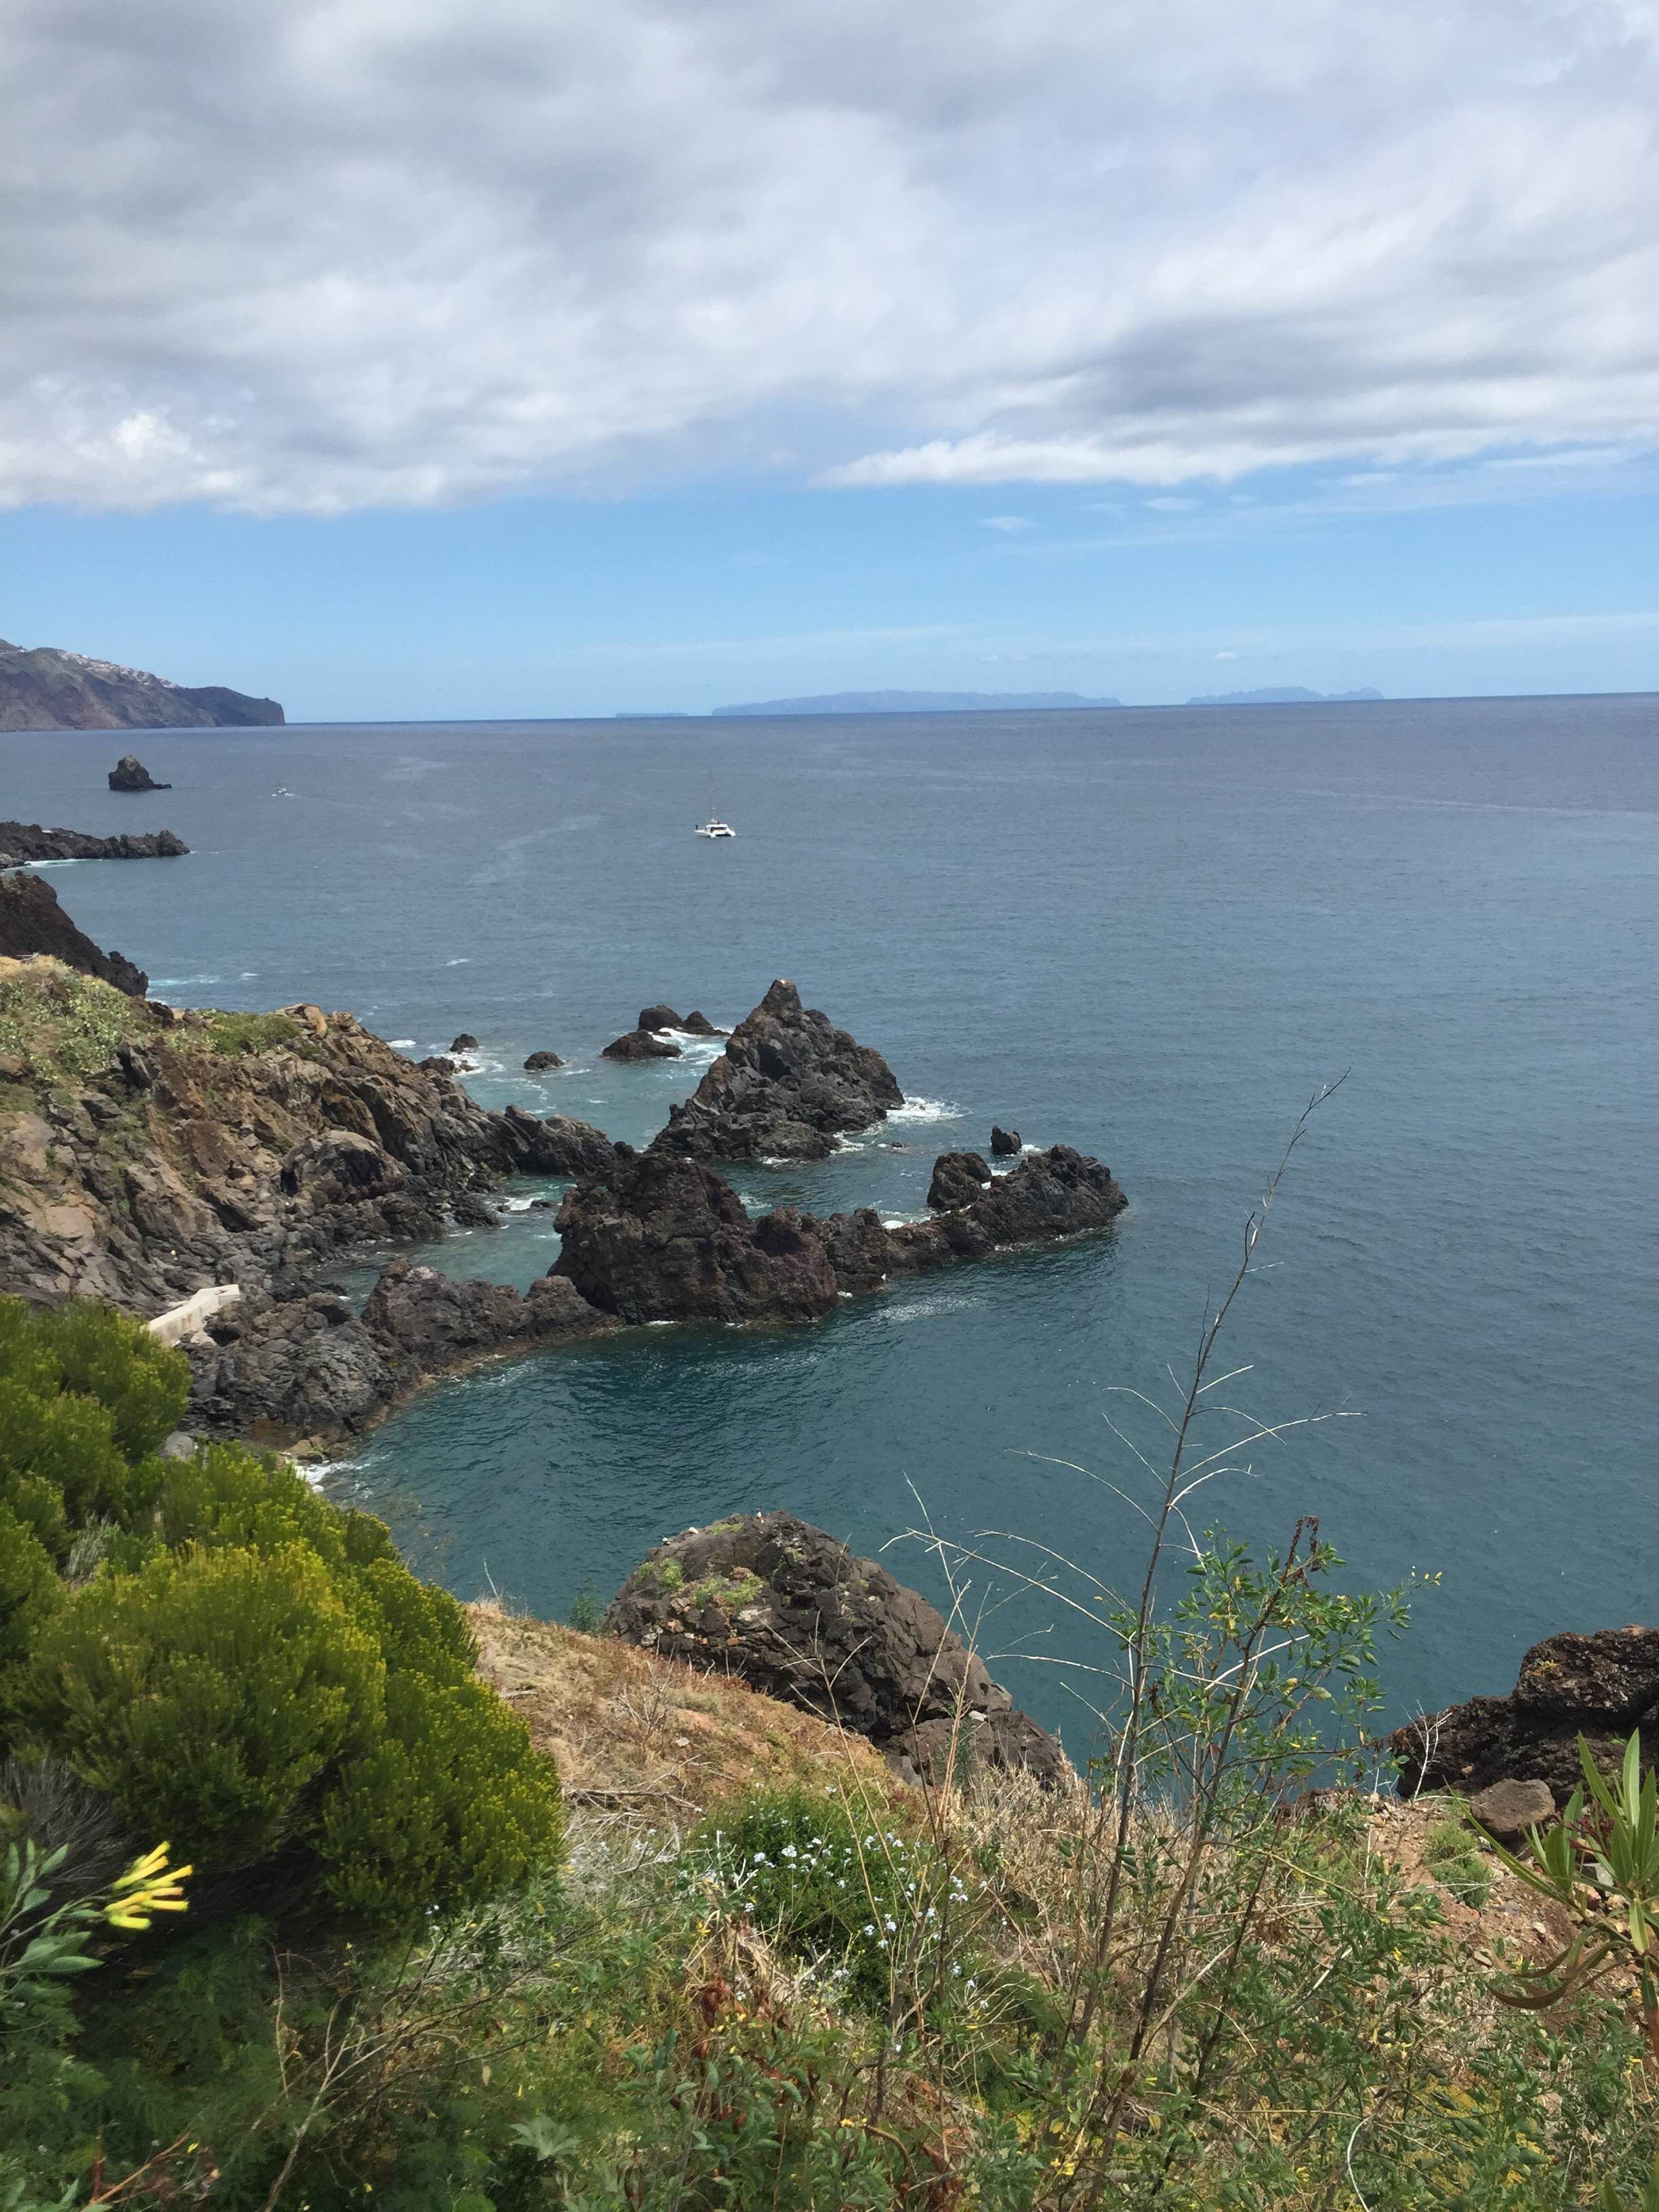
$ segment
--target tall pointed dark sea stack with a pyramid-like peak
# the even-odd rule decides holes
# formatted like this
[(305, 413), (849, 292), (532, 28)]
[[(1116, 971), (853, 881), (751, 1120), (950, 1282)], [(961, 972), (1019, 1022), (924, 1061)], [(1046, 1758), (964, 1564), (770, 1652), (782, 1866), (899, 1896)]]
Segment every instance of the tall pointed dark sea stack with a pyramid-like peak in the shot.
[(801, 1004), (779, 980), (737, 1024), (726, 1051), (653, 1150), (681, 1159), (827, 1159), (836, 1137), (905, 1104), (894, 1071), (867, 1044)]

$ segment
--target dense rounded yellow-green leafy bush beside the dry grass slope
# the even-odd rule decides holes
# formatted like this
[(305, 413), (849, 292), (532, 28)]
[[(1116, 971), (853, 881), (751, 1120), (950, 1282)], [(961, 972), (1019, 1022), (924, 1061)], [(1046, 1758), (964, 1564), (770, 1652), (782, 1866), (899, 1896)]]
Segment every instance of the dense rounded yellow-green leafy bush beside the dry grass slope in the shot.
[(208, 1869), (312, 1854), (354, 1913), (553, 1863), (557, 1776), (460, 1606), (288, 1464), (155, 1458), (186, 1394), (137, 1323), (0, 1301), (0, 1730)]

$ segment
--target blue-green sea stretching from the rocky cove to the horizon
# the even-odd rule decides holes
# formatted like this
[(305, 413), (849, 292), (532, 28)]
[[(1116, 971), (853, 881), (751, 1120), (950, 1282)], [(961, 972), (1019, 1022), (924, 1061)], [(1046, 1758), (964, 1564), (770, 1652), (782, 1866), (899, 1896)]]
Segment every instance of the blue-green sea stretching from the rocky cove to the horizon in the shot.
[[(783, 1334), (639, 1332), (434, 1387), (336, 1471), (465, 1595), (602, 1595), (672, 1528), (785, 1504), (874, 1548), (922, 1511), (1128, 1579), (1168, 1396), (1307, 1095), (1347, 1071), (1237, 1310), (1223, 1396), (1363, 1418), (1219, 1480), (1259, 1542), (1316, 1511), (1349, 1582), (1440, 1571), (1398, 1710), (1506, 1688), (1564, 1626), (1655, 1619), (1659, 699), (856, 721), (0, 739), (0, 816), (175, 827), (179, 863), (53, 869), (177, 1002), (352, 1006), (482, 1040), (491, 1104), (644, 1139), (701, 1062), (599, 1046), (774, 975), (878, 1044), (922, 1115), (761, 1206), (920, 1208), (940, 1146), (1099, 1152), (1133, 1199), (1060, 1252)], [(272, 799), (288, 785), (292, 799)], [(692, 838), (714, 803), (730, 845)], [(571, 1066), (538, 1084), (533, 1046)], [(931, 1119), (929, 1119), (931, 1115)], [(549, 1214), (451, 1239), (529, 1281)], [(1075, 1462), (1077, 1473), (1048, 1460)], [(1102, 1480), (1095, 1480), (1102, 1478)], [(938, 1590), (914, 1551), (902, 1579)], [(1053, 1610), (1053, 1608), (1044, 1608)], [(1029, 1632), (1033, 1604), (989, 1626)], [(1046, 1646), (1102, 1657), (1060, 1617)], [(1004, 1677), (1064, 1719), (1062, 1677)]]

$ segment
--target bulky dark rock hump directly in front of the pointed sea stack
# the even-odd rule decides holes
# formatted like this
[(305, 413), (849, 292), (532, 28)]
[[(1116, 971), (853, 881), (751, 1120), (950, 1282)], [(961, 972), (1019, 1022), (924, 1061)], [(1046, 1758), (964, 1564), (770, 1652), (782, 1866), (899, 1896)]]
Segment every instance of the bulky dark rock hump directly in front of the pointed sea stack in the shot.
[(823, 1243), (796, 1212), (750, 1221), (730, 1183), (617, 1146), (560, 1208), (555, 1274), (622, 1321), (812, 1321), (836, 1303)]

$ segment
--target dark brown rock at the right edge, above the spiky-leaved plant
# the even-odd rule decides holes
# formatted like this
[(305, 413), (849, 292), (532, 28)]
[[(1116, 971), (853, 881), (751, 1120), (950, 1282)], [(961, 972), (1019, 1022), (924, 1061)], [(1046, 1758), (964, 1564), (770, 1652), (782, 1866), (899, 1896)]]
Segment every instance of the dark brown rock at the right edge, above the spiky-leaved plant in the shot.
[(1535, 1644), (1509, 1697), (1407, 1721), (1389, 1736), (1400, 1794), (1493, 1783), (1546, 1783), (1562, 1803), (1582, 1781), (1577, 1739), (1613, 1772), (1632, 1730), (1655, 1734), (1659, 1717), (1659, 1628), (1599, 1628)]

